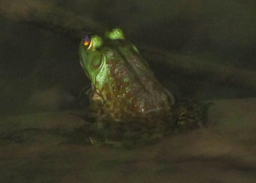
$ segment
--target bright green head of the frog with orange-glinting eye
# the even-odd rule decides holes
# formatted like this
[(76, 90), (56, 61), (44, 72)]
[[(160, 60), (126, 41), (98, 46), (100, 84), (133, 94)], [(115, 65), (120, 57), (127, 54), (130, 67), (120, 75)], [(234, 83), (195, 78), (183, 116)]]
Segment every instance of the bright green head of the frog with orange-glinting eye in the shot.
[[(103, 68), (103, 66), (111, 61), (124, 59), (117, 51), (120, 47), (125, 49), (125, 53), (134, 51), (137, 54), (139, 53), (138, 49), (125, 39), (120, 28), (107, 30), (103, 37), (87, 35), (81, 40), (79, 45), (80, 64), (87, 77), (97, 88), (103, 86), (106, 82), (106, 77), (104, 76), (109, 75), (107, 73), (108, 70)], [(97, 76), (100, 76), (98, 78), (101, 79), (96, 82)]]

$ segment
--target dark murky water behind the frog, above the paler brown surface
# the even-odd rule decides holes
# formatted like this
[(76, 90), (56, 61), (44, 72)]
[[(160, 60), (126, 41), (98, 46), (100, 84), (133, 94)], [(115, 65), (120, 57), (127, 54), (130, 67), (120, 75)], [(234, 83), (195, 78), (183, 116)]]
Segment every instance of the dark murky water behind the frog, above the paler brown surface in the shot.
[(255, 97), (255, 20), (253, 0), (3, 0), (0, 113), (83, 107), (78, 44), (109, 27), (180, 98)]

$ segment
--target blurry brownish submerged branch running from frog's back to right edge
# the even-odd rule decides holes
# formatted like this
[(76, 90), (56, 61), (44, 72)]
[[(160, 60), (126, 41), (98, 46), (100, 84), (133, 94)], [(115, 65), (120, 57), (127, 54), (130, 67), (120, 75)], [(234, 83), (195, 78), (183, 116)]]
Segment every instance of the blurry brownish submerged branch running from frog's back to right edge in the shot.
[(231, 64), (224, 65), (192, 56), (156, 50), (147, 45), (140, 48), (142, 48), (143, 56), (147, 60), (160, 62), (168, 66), (170, 70), (177, 69), (189, 75), (205, 75), (214, 82), (234, 83), (256, 89), (256, 72), (254, 70), (240, 69)]

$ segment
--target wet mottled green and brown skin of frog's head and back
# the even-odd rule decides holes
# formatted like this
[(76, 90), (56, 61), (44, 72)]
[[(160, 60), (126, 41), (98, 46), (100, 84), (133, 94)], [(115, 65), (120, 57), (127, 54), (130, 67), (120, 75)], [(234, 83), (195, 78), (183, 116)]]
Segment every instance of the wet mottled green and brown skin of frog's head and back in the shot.
[(153, 121), (170, 115), (162, 85), (119, 28), (107, 30), (103, 38), (90, 38), (89, 48), (83, 39), (80, 42), (79, 57), (92, 82), (93, 110), (103, 111), (115, 121)]

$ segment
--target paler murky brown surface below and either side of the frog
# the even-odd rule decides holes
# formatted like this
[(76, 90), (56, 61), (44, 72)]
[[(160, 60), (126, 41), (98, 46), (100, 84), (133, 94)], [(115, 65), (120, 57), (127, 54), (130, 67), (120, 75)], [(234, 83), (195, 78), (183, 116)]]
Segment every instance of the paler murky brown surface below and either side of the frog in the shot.
[(1, 181), (253, 183), (256, 100), (214, 102), (207, 127), (136, 149), (96, 141), (92, 146), (83, 110), (5, 117)]

